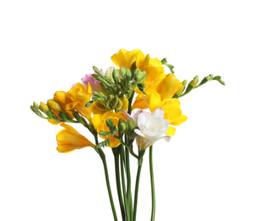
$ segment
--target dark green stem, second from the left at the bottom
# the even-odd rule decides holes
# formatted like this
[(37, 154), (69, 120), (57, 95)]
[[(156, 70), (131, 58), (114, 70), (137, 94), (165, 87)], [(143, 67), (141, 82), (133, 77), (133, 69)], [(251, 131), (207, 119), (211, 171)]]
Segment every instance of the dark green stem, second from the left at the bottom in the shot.
[(112, 149), (113, 150), (113, 153), (114, 151), (117, 151), (116, 153), (114, 153), (114, 156), (115, 156), (115, 169), (116, 169), (116, 182), (117, 182), (117, 193), (118, 193), (118, 200), (119, 200), (119, 205), (120, 205), (120, 209), (121, 209), (121, 212), (122, 212), (122, 220), (125, 221), (125, 210), (124, 210), (124, 207), (123, 207), (123, 201), (122, 201), (122, 189), (121, 189), (121, 183), (120, 183), (120, 169), (119, 169), (119, 156), (120, 156), (120, 150), (119, 150), (120, 146), (117, 147), (117, 150), (115, 150), (114, 148)]

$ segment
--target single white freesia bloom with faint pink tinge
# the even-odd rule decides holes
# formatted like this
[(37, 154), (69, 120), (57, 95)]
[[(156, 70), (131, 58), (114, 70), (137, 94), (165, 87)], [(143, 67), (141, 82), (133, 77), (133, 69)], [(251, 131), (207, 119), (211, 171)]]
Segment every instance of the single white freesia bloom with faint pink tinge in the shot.
[(139, 127), (134, 129), (134, 132), (138, 134), (136, 142), (140, 149), (145, 150), (159, 139), (170, 141), (171, 137), (164, 135), (168, 131), (169, 121), (164, 119), (162, 108), (157, 108), (152, 113), (137, 111), (133, 119)]

